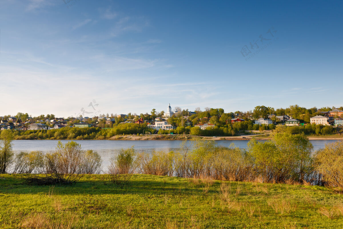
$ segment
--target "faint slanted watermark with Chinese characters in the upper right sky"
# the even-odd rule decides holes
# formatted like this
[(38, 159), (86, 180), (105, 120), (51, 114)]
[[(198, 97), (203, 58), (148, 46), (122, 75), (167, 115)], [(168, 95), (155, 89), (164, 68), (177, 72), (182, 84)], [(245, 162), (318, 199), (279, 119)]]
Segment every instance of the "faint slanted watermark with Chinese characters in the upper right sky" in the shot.
[(271, 27), (266, 33), (268, 35), (263, 36), (260, 34), (258, 39), (254, 39), (252, 42), (250, 42), (249, 47), (248, 45), (243, 46), (243, 48), (240, 50), (240, 53), (243, 57), (245, 57), (245, 61), (255, 57), (268, 46), (279, 40), (279, 37), (276, 37), (276, 32), (277, 31), (274, 29), (274, 27)]

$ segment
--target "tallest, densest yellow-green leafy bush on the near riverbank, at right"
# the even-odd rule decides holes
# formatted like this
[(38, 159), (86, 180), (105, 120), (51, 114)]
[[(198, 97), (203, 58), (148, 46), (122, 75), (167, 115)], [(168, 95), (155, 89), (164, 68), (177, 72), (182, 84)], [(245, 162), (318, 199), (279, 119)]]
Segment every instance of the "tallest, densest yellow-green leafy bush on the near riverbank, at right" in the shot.
[(285, 182), (288, 179), (312, 181), (312, 144), (304, 134), (292, 135), (278, 126), (272, 139), (248, 142), (247, 155), (256, 176), (264, 182)]

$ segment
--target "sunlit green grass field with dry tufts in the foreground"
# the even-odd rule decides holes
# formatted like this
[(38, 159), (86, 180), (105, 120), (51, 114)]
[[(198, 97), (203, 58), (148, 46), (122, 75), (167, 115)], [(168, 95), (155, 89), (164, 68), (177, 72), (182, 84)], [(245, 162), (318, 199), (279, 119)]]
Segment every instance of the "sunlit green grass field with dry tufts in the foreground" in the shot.
[(101, 178), (51, 187), (0, 175), (0, 228), (343, 228), (343, 196), (321, 186)]

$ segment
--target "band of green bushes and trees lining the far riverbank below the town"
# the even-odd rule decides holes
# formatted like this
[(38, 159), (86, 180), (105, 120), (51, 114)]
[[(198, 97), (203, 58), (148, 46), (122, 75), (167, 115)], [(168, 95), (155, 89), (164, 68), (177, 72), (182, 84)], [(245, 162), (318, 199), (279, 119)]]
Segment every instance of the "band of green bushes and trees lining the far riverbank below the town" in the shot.
[[(191, 134), (196, 136), (233, 136), (239, 131), (245, 130), (273, 130), (274, 124), (258, 125), (253, 124), (252, 121), (237, 122), (234, 124), (228, 124), (223, 126), (215, 126), (214, 128), (208, 127), (205, 130), (199, 127), (191, 126), (178, 126), (173, 130), (160, 129), (158, 134)], [(339, 128), (338, 128), (339, 129)], [(1, 130), (6, 132), (7, 130)], [(116, 125), (113, 128), (101, 129), (99, 127), (77, 128), (77, 127), (63, 127), (60, 129), (50, 130), (26, 130), (26, 131), (13, 131), (12, 133), (15, 140), (32, 140), (32, 139), (109, 139), (115, 135), (130, 135), (130, 134), (143, 134), (143, 133), (155, 133), (155, 129), (148, 128), (146, 124), (134, 124), (126, 123)], [(304, 133), (306, 135), (329, 135), (332, 134), (334, 128), (332, 126), (323, 126), (308, 124), (306, 126), (289, 126), (286, 131), (291, 134)]]

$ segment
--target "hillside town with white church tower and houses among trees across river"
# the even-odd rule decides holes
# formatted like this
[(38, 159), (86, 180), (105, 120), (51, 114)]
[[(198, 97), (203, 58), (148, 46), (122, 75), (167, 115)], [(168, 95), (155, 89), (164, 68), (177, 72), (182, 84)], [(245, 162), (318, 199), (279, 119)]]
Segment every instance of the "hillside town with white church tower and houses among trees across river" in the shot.
[[(172, 110), (168, 104), (166, 111), (156, 112), (153, 109), (150, 114), (103, 114), (95, 117), (68, 117), (58, 118), (53, 114), (29, 116), (27, 113), (18, 113), (15, 116), (1, 116), (0, 129), (13, 130), (49, 130), (63, 127), (100, 127), (112, 128), (115, 125), (135, 123), (146, 126), (157, 133), (158, 130), (173, 130), (178, 126), (199, 127), (201, 130), (214, 128), (215, 126), (234, 125), (235, 123), (252, 121), (254, 125), (270, 126), (281, 124), (285, 126), (305, 126), (316, 124), (323, 126), (342, 126), (343, 107), (330, 108), (316, 107), (306, 109), (298, 105), (289, 108), (274, 109), (272, 107), (256, 106), (253, 111), (225, 113), (222, 108), (208, 108), (204, 111), (198, 107), (195, 111), (181, 110), (175, 107)], [(146, 133), (148, 134), (148, 133)], [(153, 134), (153, 133), (150, 133)]]

